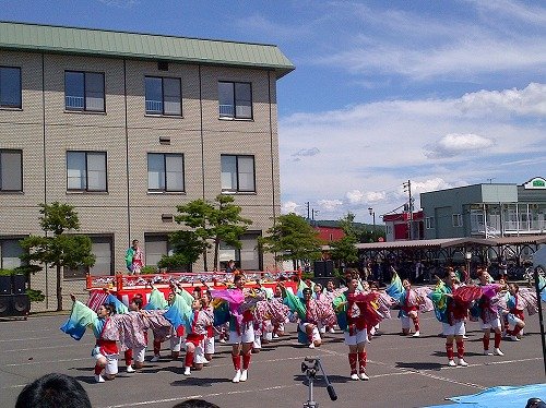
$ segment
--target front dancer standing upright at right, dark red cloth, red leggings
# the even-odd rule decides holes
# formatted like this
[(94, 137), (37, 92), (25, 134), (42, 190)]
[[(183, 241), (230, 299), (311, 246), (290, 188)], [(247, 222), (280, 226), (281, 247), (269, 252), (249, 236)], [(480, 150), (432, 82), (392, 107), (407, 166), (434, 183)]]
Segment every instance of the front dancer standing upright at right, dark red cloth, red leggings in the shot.
[(464, 320), (468, 314), (468, 307), (473, 300), (482, 296), (482, 289), (474, 286), (459, 287), (459, 279), (453, 271), (449, 271), (446, 281), (440, 281), (428, 296), (435, 305), (436, 317), (442, 324), (446, 338), (448, 365), (455, 367), (453, 340), (456, 344), (459, 365), (467, 367), (464, 360)]

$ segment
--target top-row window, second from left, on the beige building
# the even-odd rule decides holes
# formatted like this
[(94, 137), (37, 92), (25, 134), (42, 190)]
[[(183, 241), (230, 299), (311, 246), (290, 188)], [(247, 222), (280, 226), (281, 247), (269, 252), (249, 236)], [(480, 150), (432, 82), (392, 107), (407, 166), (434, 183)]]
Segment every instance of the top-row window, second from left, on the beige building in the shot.
[(64, 72), (64, 107), (67, 110), (105, 111), (104, 73)]

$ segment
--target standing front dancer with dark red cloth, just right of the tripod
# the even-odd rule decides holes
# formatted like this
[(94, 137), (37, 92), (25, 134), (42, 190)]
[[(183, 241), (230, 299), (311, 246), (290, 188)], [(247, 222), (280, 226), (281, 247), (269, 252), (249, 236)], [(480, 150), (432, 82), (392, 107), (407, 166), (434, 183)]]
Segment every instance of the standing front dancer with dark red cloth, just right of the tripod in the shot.
[[(347, 279), (347, 291), (334, 299), (334, 310), (337, 314), (337, 324), (343, 331), (345, 344), (348, 346), (348, 363), (351, 380), (369, 380), (366, 372), (368, 327), (372, 327), (381, 320), (372, 305), (379, 295), (358, 291), (358, 279)], [(358, 364), (358, 371), (357, 371)]]

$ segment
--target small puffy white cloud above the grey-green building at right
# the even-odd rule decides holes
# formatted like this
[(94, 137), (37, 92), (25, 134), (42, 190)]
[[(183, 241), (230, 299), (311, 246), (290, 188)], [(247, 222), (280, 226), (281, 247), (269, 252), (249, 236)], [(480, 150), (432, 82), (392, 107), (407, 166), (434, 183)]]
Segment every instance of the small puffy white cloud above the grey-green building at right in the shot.
[(479, 155), (492, 147), (495, 141), (478, 134), (447, 134), (438, 142), (425, 146), (425, 156), (429, 158), (453, 157), (460, 155)]

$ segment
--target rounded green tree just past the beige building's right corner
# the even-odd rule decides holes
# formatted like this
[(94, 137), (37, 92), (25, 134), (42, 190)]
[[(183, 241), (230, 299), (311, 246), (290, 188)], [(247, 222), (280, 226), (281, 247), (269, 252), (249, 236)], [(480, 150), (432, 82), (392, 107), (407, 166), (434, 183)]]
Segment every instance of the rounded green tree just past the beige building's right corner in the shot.
[(259, 239), (265, 252), (275, 254), (276, 261), (292, 260), (294, 268), (300, 260), (317, 260), (321, 254), (318, 232), (304, 217), (294, 213), (281, 215), (269, 236)]

